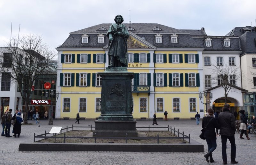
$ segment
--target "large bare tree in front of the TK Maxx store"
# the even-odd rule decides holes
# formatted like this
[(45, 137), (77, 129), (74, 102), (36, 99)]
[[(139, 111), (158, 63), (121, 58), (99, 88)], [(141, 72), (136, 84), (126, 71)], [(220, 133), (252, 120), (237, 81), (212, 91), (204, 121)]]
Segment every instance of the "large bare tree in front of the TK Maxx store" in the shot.
[(19, 41), (13, 39), (0, 53), (0, 72), (9, 75), (11, 83), (17, 83), (20, 88), (18, 91), (25, 105), (24, 123), (27, 124), (31, 86), (40, 75), (53, 72), (52, 60), (56, 54), (35, 34), (24, 35)]

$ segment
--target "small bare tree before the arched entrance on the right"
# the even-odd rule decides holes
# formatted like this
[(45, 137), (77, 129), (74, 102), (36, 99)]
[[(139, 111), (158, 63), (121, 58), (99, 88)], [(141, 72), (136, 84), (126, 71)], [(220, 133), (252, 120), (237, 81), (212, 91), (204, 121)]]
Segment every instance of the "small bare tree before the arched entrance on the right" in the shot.
[(212, 66), (212, 84), (224, 89), (225, 103), (227, 103), (228, 93), (241, 79), (240, 66), (232, 66), (227, 63), (223, 65), (212, 64)]

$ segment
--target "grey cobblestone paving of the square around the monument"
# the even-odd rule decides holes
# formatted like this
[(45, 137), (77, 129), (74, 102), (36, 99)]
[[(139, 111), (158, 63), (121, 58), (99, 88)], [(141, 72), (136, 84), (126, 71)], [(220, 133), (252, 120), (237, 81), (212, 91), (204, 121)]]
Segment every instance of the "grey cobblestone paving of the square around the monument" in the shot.
[[(189, 134), (192, 139), (204, 144), (204, 153), (157, 153), (157, 152), (46, 152), (46, 151), (18, 151), (21, 142), (33, 142), (34, 132), (36, 135), (43, 134), (44, 131), (49, 132), (52, 126), (62, 126), (63, 128), (68, 125), (71, 126), (88, 126), (92, 124), (93, 120), (81, 121), (80, 124), (75, 124), (75, 120), (53, 120), (54, 125), (48, 125), (48, 120), (40, 120), (40, 127), (35, 124), (35, 121), (29, 120), (28, 123), (33, 125), (22, 125), (20, 138), (6, 138), (0, 137), (0, 164), (16, 165), (16, 164), (40, 164), (40, 165), (204, 165), (207, 163), (204, 159), (204, 154), (207, 152), (207, 143), (205, 140), (199, 138), (201, 131), (201, 124), (196, 125), (196, 121), (180, 120), (180, 121), (158, 121), (158, 126), (167, 126), (168, 124), (179, 129), (185, 134)], [(137, 121), (136, 126), (153, 126), (152, 121)], [(153, 126), (157, 127), (157, 126)], [(12, 130), (12, 127), (11, 127)], [(154, 130), (154, 129), (152, 129)], [(2, 131), (2, 127), (1, 127)], [(236, 161), (238, 164), (252, 165), (255, 164), (256, 157), (256, 136), (251, 134), (251, 140), (239, 139), (239, 133), (236, 133)], [(228, 164), (230, 164), (230, 143), (227, 143)], [(215, 164), (222, 164), (221, 156), (221, 137), (217, 137), (217, 148), (213, 152), (213, 159)]]

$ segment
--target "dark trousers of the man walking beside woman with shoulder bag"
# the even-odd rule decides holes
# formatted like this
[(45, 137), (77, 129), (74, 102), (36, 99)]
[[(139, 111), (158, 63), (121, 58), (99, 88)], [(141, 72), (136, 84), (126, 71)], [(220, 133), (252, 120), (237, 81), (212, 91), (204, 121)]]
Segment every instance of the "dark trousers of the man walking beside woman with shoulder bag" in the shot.
[(235, 141), (235, 135), (233, 136), (226, 136), (221, 135), (221, 143), (222, 143), (222, 160), (223, 162), (227, 162), (227, 139), (230, 142), (231, 145), (231, 161), (236, 161), (236, 141)]

